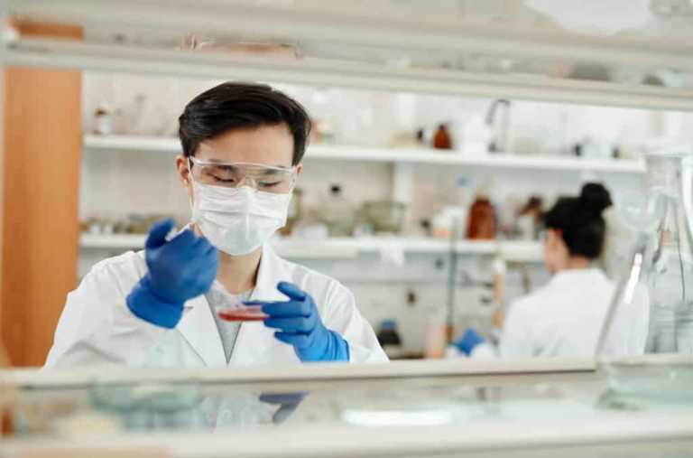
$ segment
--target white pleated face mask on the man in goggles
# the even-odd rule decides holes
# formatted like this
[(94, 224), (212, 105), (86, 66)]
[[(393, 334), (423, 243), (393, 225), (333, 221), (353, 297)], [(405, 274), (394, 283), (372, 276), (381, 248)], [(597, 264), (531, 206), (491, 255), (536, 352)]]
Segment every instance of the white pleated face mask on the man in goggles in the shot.
[(247, 255), (286, 224), (291, 193), (225, 188), (192, 181), (192, 222), (209, 243), (233, 256)]

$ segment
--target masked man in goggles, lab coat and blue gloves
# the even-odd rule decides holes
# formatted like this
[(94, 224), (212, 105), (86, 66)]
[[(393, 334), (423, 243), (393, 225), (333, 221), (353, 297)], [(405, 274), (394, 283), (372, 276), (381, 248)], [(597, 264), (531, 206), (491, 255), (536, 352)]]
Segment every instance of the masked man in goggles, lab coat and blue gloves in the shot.
[[(68, 294), (47, 367), (196, 367), (386, 361), (353, 294), (278, 257), (310, 118), (268, 86), (224, 83), (180, 116), (176, 158), (192, 220), (154, 225), (145, 249), (94, 266)], [(259, 322), (226, 322), (228, 304)]]

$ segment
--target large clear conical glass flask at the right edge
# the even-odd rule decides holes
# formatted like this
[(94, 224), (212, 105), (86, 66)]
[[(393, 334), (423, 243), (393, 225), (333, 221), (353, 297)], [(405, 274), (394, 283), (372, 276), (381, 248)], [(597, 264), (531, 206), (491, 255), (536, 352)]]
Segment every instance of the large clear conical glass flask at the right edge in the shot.
[(693, 154), (648, 154), (646, 199), (628, 219), (638, 235), (606, 314), (599, 369), (622, 395), (693, 399)]

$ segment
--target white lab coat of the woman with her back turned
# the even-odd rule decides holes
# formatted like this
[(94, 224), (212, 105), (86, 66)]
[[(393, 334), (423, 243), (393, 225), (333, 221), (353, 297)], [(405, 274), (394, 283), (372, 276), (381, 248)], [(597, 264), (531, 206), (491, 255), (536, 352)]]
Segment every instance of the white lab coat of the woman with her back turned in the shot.
[[(497, 349), (478, 345), (473, 358), (593, 358), (615, 285), (598, 268), (565, 270), (511, 304)], [(642, 354), (647, 338), (648, 295), (642, 288), (632, 310), (619, 310), (606, 341), (610, 356)]]

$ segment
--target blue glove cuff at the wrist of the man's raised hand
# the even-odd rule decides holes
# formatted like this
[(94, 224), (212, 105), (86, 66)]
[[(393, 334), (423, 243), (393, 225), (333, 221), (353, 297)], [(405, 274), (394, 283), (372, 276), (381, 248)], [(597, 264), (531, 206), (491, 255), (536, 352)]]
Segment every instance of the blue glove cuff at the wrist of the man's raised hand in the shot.
[(183, 304), (171, 304), (153, 293), (148, 275), (134, 285), (125, 303), (136, 317), (162, 328), (175, 328), (183, 316)]

